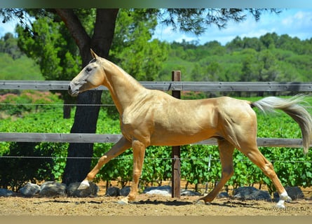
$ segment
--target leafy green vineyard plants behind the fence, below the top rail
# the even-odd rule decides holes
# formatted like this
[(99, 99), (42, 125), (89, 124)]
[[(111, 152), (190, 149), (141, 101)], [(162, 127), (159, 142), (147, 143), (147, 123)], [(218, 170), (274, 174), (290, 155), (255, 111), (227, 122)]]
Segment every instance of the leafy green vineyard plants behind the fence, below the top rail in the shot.
[[(23, 94), (39, 93), (27, 92)], [(35, 98), (32, 95), (31, 98)], [(23, 98), (22, 96), (16, 96)], [(193, 97), (198, 97), (194, 94)], [(40, 98), (40, 97), (39, 97)], [(42, 103), (53, 101), (60, 103), (57, 96), (48, 97)], [(42, 100), (43, 100), (42, 99)], [(251, 101), (259, 97), (248, 98)], [(16, 99), (20, 101), (21, 99)], [(312, 99), (308, 98), (311, 104)], [(27, 109), (26, 109), (27, 110)], [(309, 109), (311, 110), (311, 109)], [(273, 138), (301, 138), (298, 125), (285, 113), (265, 115), (257, 109), (258, 137)], [(8, 112), (6, 112), (8, 113)], [(72, 112), (74, 113), (74, 111)], [(0, 132), (50, 132), (69, 133), (72, 119), (62, 118), (61, 106), (41, 106), (22, 113), (22, 118), (11, 117), (1, 120)], [(119, 122), (101, 110), (97, 123), (97, 133), (120, 133)], [(92, 166), (105, 152), (109, 151), (112, 144), (95, 144)], [(64, 172), (68, 144), (59, 143), (13, 143), (1, 142), (0, 155), (4, 156), (46, 156), (46, 158), (1, 158), (0, 180), (2, 187), (18, 190), (27, 181), (60, 180)], [(312, 186), (311, 160), (312, 151), (303, 154), (301, 148), (275, 148), (261, 147), (260, 151), (273, 163), (276, 173), (284, 186)], [(145, 153), (141, 181), (144, 184), (161, 184), (171, 178), (171, 147), (149, 146)], [(217, 146), (186, 145), (181, 148), (181, 177), (189, 183), (216, 183), (221, 177), (221, 165)], [(209, 159), (210, 158), (210, 159)], [(266, 184), (271, 192), (274, 187), (263, 172), (239, 151), (233, 155), (234, 174), (226, 183), (228, 186), (251, 186), (254, 183)], [(3, 161), (2, 161), (3, 160)], [(210, 160), (210, 166), (209, 166)], [(9, 167), (9, 169), (8, 169)], [(28, 169), (29, 168), (29, 169)], [(119, 180), (125, 186), (132, 180), (133, 153), (131, 149), (111, 160), (95, 181)]]

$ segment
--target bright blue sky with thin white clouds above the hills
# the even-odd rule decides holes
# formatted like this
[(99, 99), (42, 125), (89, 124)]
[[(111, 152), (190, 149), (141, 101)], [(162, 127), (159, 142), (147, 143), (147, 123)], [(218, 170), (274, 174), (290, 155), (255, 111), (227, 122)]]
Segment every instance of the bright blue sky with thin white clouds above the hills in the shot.
[[(7, 32), (13, 33), (16, 22), (2, 23), (0, 21), (0, 36), (4, 36)], [(153, 38), (168, 42), (181, 42), (184, 39), (185, 41), (198, 41), (199, 44), (219, 41), (219, 43), (225, 45), (236, 36), (259, 38), (259, 36), (272, 32), (276, 32), (278, 35), (297, 36), (301, 40), (312, 38), (312, 8), (285, 9), (279, 15), (269, 12), (264, 13), (258, 22), (255, 22), (251, 15), (247, 15), (244, 22), (229, 22), (226, 29), (220, 30), (217, 26), (209, 26), (201, 36), (172, 31), (171, 27), (158, 25)]]

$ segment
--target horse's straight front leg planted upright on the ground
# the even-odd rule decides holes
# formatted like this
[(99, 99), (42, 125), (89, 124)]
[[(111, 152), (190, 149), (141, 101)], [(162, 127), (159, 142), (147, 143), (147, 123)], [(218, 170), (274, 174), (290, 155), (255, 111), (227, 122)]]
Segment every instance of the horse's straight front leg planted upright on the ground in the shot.
[(128, 204), (128, 201), (135, 200), (138, 191), (138, 184), (140, 176), (142, 174), (142, 167), (144, 163), (144, 155), (146, 146), (138, 140), (134, 140), (132, 144), (133, 148), (133, 184), (130, 193), (127, 197), (123, 198), (120, 204)]

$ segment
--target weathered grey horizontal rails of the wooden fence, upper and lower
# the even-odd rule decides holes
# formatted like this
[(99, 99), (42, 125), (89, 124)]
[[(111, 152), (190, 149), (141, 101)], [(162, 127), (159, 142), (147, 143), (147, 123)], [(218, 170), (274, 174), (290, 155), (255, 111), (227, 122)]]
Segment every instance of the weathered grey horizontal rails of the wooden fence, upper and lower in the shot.
[[(180, 82), (151, 81), (140, 82), (144, 87), (163, 91), (201, 91), (201, 92), (312, 92), (312, 83), (298, 82)], [(0, 80), (0, 90), (66, 90), (69, 81), (29, 81)], [(98, 87), (95, 90), (107, 90)], [(61, 134), (61, 133), (9, 133), (0, 132), (0, 141), (31, 142), (76, 142), (76, 143), (115, 143), (121, 134)], [(258, 138), (259, 146), (301, 148), (301, 139)], [(196, 144), (217, 145), (215, 139)], [(311, 144), (312, 146), (312, 144)]]

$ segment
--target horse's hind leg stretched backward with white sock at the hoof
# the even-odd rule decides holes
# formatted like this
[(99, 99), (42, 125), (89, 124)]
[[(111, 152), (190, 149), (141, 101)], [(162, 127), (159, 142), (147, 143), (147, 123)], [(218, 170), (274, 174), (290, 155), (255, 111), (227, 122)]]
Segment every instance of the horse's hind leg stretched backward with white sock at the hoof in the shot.
[(285, 208), (284, 202), (290, 202), (292, 199), (287, 195), (285, 188), (283, 187), (282, 183), (280, 183), (280, 180), (274, 171), (273, 165), (264, 157), (264, 155), (262, 155), (257, 147), (257, 144), (246, 148), (244, 147), (240, 149), (240, 151), (244, 153), (247, 158), (249, 158), (255, 165), (257, 165), (257, 167), (259, 167), (262, 172), (264, 172), (264, 174), (268, 176), (269, 179), (271, 179), (273, 185), (276, 187), (276, 190), (280, 195), (280, 200), (276, 204), (276, 207)]

